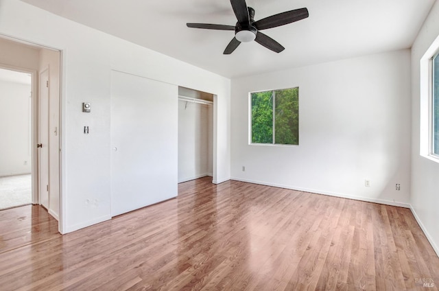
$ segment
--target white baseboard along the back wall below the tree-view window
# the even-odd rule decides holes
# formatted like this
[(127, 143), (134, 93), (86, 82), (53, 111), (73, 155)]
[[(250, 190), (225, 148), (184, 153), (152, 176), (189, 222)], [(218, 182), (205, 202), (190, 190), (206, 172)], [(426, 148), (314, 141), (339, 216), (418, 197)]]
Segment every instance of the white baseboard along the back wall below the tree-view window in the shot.
[(396, 201), (368, 198), (368, 197), (361, 197), (361, 196), (352, 196), (352, 195), (347, 195), (347, 194), (322, 191), (322, 190), (318, 190), (318, 189), (308, 189), (308, 188), (294, 187), (294, 186), (290, 186), (290, 185), (267, 183), (267, 182), (247, 180), (247, 179), (234, 178), (234, 177), (232, 177), (230, 179), (235, 180), (235, 181), (252, 183), (252, 184), (259, 184), (259, 185), (272, 186), (272, 187), (278, 187), (278, 188), (284, 188), (284, 189), (291, 189), (291, 190), (302, 191), (302, 192), (309, 192), (309, 193), (313, 193), (313, 194), (334, 196), (334, 197), (347, 198), (347, 199), (359, 200), (359, 201), (364, 201), (364, 202), (372, 202), (372, 203), (378, 203), (378, 204), (383, 204), (383, 205), (391, 205), (391, 206), (397, 206), (397, 207), (410, 208), (410, 204), (403, 203), (403, 202), (396, 202)]

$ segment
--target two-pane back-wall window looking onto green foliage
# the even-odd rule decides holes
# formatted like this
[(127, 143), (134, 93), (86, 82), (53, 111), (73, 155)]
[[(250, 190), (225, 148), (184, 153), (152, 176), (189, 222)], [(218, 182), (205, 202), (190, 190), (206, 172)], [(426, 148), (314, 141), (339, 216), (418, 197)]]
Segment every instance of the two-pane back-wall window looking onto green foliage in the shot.
[(250, 93), (251, 143), (299, 144), (299, 89)]

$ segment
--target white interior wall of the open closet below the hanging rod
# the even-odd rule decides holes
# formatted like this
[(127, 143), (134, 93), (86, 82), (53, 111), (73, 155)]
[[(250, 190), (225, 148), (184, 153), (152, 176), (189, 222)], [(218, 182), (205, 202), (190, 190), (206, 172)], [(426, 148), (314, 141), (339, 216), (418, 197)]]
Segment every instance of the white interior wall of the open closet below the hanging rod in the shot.
[(212, 105), (178, 102), (178, 183), (212, 176), (212, 116)]

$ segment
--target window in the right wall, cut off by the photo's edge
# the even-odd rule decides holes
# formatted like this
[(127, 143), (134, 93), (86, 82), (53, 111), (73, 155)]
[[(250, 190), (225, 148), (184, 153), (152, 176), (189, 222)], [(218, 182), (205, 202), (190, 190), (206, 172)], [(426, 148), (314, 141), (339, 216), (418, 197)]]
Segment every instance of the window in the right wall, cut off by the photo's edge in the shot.
[(431, 153), (439, 156), (439, 54), (433, 57), (433, 102), (432, 102), (432, 126), (431, 129)]

